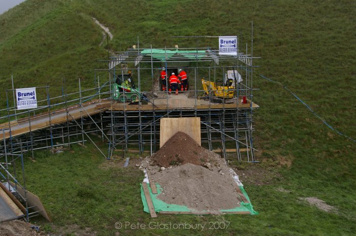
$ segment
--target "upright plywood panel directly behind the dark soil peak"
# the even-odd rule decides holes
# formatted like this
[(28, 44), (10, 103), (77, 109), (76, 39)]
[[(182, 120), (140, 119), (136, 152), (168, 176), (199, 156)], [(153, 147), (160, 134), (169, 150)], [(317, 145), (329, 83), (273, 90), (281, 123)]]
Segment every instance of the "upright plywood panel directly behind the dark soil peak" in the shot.
[(160, 121), (160, 148), (179, 131), (201, 145), (200, 117), (162, 118)]

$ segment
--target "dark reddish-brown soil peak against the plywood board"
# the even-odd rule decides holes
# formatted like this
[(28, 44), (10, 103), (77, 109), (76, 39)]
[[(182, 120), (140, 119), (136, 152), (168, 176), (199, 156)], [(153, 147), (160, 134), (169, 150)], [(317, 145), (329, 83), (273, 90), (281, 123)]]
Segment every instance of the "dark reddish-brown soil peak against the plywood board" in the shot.
[(188, 134), (177, 132), (152, 155), (151, 160), (164, 167), (186, 163), (202, 165), (214, 155), (216, 154), (200, 147)]

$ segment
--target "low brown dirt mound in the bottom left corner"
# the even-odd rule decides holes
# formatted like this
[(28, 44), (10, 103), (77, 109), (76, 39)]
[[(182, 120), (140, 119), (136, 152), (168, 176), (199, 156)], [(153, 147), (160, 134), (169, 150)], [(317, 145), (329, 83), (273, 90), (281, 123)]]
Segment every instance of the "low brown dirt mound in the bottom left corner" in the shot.
[(9, 222), (0, 224), (0, 235), (2, 236), (37, 236), (40, 235), (34, 229), (31, 228), (31, 225), (21, 221), (21, 220), (12, 220)]

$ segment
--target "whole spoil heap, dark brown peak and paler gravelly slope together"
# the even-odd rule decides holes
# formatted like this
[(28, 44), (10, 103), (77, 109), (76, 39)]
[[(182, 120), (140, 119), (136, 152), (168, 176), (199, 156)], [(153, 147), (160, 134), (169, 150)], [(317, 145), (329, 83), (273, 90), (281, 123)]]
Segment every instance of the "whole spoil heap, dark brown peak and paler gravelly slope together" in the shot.
[(157, 197), (167, 204), (217, 212), (239, 207), (238, 186), (225, 160), (200, 147), (188, 134), (177, 132), (140, 165), (151, 183), (163, 188)]

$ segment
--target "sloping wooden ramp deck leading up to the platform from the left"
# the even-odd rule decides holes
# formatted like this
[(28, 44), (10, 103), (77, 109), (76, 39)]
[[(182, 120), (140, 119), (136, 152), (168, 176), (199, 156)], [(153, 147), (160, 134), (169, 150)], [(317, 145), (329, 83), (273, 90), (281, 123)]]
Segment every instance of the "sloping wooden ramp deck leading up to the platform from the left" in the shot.
[[(5, 130), (5, 139), (10, 138), (9, 127), (11, 128), (11, 137), (16, 137), (30, 131), (49, 127), (50, 125), (61, 124), (68, 120), (78, 119), (81, 117), (87, 117), (89, 115), (95, 115), (97, 113), (106, 111), (110, 108), (110, 100), (92, 100), (87, 103), (83, 103), (70, 106), (68, 108), (62, 108), (58, 110), (44, 112), (35, 116), (21, 118), (7, 123), (0, 124), (0, 129)], [(3, 133), (0, 133), (0, 140), (4, 140)]]

